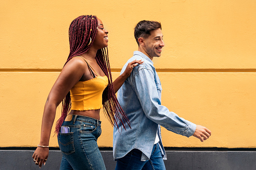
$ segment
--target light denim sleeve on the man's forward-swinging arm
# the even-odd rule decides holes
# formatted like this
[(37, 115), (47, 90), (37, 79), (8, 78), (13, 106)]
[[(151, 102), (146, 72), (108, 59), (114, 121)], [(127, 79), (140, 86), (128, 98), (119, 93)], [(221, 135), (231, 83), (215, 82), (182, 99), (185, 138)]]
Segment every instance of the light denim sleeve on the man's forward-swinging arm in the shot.
[(131, 85), (147, 118), (177, 134), (187, 137), (194, 134), (196, 124), (179, 117), (176, 113), (161, 105), (153, 70), (148, 68), (138, 69), (132, 77)]

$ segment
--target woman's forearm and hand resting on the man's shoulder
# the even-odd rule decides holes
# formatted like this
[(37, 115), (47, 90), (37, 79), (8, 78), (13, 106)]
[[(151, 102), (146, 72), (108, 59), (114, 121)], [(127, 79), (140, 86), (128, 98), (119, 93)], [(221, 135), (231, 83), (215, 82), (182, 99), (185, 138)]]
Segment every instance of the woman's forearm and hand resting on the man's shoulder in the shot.
[(130, 76), (133, 67), (137, 66), (138, 64), (142, 64), (143, 62), (141, 60), (134, 60), (130, 63), (128, 63), (125, 71), (123, 74), (121, 74), (114, 82), (113, 87), (115, 90), (115, 93), (120, 89), (120, 87), (124, 84), (124, 81)]

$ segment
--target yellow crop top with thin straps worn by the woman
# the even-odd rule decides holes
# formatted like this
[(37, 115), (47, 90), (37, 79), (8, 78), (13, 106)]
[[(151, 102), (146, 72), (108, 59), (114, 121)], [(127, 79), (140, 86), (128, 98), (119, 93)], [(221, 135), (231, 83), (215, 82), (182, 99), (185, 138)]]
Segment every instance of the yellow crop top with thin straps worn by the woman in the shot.
[[(86, 61), (84, 58), (83, 60)], [(87, 64), (91, 70), (92, 67), (88, 62)], [(71, 88), (71, 110), (96, 110), (103, 107), (102, 93), (108, 86), (108, 77), (99, 76), (95, 70), (94, 72), (97, 74), (95, 78), (87, 81), (78, 81), (78, 83)]]

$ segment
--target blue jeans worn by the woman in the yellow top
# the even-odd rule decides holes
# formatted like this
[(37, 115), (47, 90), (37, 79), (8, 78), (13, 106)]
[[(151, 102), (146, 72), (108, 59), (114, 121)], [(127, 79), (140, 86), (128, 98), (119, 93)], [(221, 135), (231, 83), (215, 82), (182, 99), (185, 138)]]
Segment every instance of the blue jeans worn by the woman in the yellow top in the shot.
[(101, 135), (101, 121), (80, 115), (72, 115), (72, 120), (64, 121), (68, 133), (58, 134), (62, 151), (60, 169), (106, 169), (97, 139)]

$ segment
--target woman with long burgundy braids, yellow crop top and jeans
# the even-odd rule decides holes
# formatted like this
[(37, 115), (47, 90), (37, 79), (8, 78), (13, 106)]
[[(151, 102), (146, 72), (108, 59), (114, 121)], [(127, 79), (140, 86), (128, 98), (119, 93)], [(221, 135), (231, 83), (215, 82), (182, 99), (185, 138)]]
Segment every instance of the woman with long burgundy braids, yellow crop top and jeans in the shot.
[(97, 145), (101, 134), (100, 108), (104, 108), (112, 125), (129, 125), (115, 93), (133, 67), (142, 62), (129, 63), (112, 83), (108, 31), (96, 16), (80, 16), (72, 21), (69, 44), (69, 56), (44, 107), (41, 140), (32, 157), (39, 167), (45, 164), (56, 108), (62, 101), (62, 114), (55, 129), (63, 154), (60, 169), (106, 169)]

